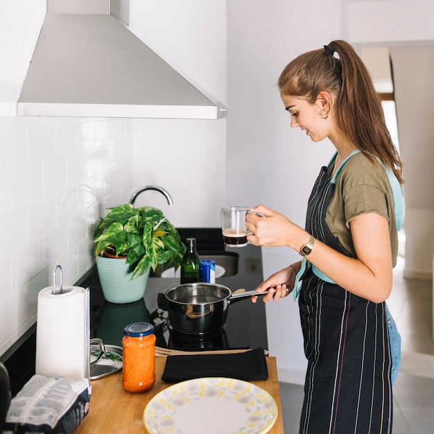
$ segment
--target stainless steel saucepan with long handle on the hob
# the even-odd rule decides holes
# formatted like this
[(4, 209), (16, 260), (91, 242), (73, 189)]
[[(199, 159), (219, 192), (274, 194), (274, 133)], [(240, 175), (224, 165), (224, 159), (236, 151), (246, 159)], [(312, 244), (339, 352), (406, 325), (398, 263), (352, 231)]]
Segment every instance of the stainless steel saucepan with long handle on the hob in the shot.
[(200, 335), (213, 333), (225, 325), (231, 302), (266, 293), (268, 290), (232, 293), (226, 286), (201, 282), (175, 286), (165, 294), (168, 318), (175, 331)]

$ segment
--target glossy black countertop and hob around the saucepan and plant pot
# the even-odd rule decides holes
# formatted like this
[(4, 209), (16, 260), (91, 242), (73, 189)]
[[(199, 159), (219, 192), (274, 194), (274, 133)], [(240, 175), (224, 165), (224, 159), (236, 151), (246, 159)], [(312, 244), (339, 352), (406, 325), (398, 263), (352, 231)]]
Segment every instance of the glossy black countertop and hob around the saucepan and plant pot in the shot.
[[(239, 288), (253, 290), (261, 283), (261, 248), (253, 245), (244, 248), (225, 248), (220, 228), (189, 228), (178, 229), (178, 231), (183, 240), (189, 236), (196, 238), (201, 256), (204, 252), (216, 254), (223, 251), (238, 255), (236, 275), (228, 277), (223, 275), (216, 279), (216, 284), (222, 284), (234, 291)], [(268, 349), (265, 305), (260, 299), (256, 304), (252, 303), (250, 297), (230, 302), (225, 326), (211, 336), (184, 335), (172, 331), (164, 293), (177, 285), (180, 285), (179, 278), (149, 277), (144, 300), (114, 304), (104, 299), (98, 273), (95, 270), (80, 284), (91, 289), (91, 338), (100, 338), (105, 344), (121, 346), (125, 326), (132, 322), (151, 322), (156, 327), (157, 345), (160, 347)]]

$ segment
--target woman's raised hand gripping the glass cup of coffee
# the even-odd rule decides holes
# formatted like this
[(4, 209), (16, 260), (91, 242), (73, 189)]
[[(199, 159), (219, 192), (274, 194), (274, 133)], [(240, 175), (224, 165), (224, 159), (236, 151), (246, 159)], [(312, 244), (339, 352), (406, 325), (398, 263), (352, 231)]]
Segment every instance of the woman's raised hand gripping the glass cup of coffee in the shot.
[(251, 208), (246, 216), (245, 227), (251, 232), (249, 243), (253, 245), (299, 248), (309, 240), (309, 234), (282, 214), (258, 205)]

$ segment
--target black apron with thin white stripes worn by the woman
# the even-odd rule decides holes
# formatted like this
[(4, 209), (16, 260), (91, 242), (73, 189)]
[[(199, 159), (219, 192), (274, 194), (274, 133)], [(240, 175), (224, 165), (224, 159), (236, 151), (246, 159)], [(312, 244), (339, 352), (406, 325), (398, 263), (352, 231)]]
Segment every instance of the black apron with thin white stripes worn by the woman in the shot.
[[(306, 231), (342, 252), (326, 223), (333, 195), (322, 167)], [(300, 434), (390, 434), (392, 385), (385, 303), (373, 303), (306, 272), (299, 295), (308, 359)]]

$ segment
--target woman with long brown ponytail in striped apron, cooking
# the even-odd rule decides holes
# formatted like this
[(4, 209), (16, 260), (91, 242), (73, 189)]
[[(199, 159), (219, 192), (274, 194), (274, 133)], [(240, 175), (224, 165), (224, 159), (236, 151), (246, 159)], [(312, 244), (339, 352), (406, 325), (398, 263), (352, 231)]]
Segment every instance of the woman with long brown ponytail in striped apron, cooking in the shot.
[(247, 218), (250, 243), (287, 245), (303, 257), (257, 288), (273, 288), (264, 302), (298, 296), (308, 359), (300, 433), (391, 433), (385, 300), (397, 260), (401, 161), (370, 74), (347, 42), (300, 55), (278, 84), (291, 127), (336, 148), (313, 186), (305, 229), (263, 205)]

